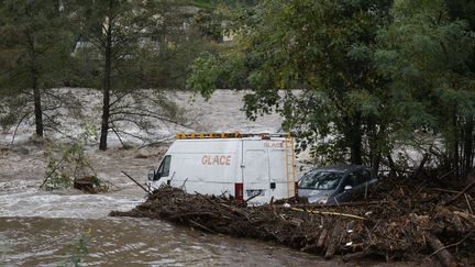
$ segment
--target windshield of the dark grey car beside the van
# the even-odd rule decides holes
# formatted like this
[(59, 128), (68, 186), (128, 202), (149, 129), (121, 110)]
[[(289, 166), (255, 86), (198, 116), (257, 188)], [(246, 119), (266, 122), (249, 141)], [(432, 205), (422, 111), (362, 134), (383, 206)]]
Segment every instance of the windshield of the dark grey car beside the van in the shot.
[(335, 190), (343, 173), (317, 170), (305, 175), (299, 181), (299, 188), (317, 190)]

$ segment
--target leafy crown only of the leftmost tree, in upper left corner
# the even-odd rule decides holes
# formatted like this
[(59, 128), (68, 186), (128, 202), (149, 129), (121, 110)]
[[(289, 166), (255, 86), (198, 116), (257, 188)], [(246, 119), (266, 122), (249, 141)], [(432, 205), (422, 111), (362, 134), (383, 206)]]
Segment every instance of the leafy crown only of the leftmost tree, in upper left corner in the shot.
[[(31, 89), (62, 85), (71, 35), (58, 1), (2, 1), (0, 4), (0, 86)], [(36, 76), (36, 77), (34, 77)]]

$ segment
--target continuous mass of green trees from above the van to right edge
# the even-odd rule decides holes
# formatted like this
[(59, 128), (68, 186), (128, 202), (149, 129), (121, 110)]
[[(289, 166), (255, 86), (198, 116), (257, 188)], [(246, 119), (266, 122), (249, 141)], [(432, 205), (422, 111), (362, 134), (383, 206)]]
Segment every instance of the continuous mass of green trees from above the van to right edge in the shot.
[(463, 176), (474, 153), (473, 10), (445, 0), (259, 1), (225, 13), (234, 45), (196, 59), (188, 86), (206, 98), (223, 80), (251, 88), (248, 118), (280, 112), (300, 148), (325, 162), (377, 170), (396, 144), (429, 130), (444, 141), (442, 165)]

